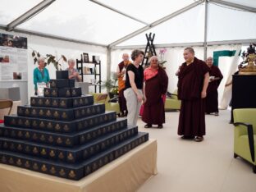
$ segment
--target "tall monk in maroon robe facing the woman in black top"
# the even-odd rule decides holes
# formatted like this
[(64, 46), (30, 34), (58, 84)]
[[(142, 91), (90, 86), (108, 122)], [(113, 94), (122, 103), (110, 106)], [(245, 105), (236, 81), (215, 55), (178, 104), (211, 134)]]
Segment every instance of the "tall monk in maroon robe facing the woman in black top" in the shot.
[(194, 57), (193, 48), (185, 48), (185, 62), (178, 72), (178, 98), (181, 99), (178, 135), (182, 139), (202, 141), (205, 135), (205, 101), (209, 68)]

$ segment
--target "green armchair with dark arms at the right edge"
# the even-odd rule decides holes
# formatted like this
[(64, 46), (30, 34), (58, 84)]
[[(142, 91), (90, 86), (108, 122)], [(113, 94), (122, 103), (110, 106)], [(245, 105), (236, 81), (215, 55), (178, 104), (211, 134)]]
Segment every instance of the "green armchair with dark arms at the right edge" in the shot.
[(256, 173), (256, 108), (234, 109), (234, 158), (244, 158)]

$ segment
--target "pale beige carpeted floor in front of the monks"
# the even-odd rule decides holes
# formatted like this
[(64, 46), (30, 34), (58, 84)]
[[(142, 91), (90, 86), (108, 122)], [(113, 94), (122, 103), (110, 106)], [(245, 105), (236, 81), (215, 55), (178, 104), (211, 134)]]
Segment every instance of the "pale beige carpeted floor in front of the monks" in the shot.
[(249, 163), (233, 158), (233, 125), (230, 111), (206, 116), (203, 142), (184, 140), (177, 135), (179, 112), (166, 112), (162, 130), (139, 130), (158, 139), (158, 175), (140, 187), (139, 192), (255, 192), (256, 174)]

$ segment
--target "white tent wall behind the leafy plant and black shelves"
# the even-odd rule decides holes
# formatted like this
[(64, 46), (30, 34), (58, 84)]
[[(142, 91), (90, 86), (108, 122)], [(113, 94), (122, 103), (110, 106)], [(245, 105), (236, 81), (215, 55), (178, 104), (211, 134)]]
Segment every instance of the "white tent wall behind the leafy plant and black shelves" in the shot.
[[(34, 59), (32, 57), (33, 50), (39, 52), (43, 57), (45, 57), (46, 54), (53, 54), (53, 56), (57, 58), (64, 55), (67, 59), (80, 59), (80, 55), (82, 53), (89, 53), (89, 59), (91, 60), (93, 55), (97, 55), (101, 60), (102, 80), (107, 79), (107, 72), (105, 72), (107, 71), (107, 48), (81, 43), (72, 43), (64, 40), (43, 38), (30, 34), (21, 34), (16, 32), (10, 33), (5, 30), (0, 30), (0, 33), (20, 35), (28, 39), (28, 98), (34, 95), (33, 71), (34, 68), (38, 66), (37, 63), (34, 65)], [(63, 62), (62, 70), (65, 70), (67, 66), (67, 63)], [(55, 79), (55, 67), (52, 64), (46, 67), (48, 68), (50, 78)], [(91, 77), (87, 75), (84, 81), (89, 82), (89, 79), (92, 78), (94, 78), (93, 75)], [(93, 87), (91, 87), (91, 92), (94, 92)]]

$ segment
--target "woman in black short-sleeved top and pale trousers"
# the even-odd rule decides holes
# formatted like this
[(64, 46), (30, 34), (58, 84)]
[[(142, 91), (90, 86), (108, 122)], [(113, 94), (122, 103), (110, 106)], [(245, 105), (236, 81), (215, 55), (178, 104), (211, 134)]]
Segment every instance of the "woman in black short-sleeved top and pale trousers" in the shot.
[(131, 53), (133, 63), (126, 68), (126, 90), (124, 92), (126, 105), (128, 109), (127, 124), (136, 126), (139, 117), (139, 108), (142, 101), (146, 101), (144, 97), (144, 71), (139, 64), (144, 58), (144, 52), (135, 49)]

